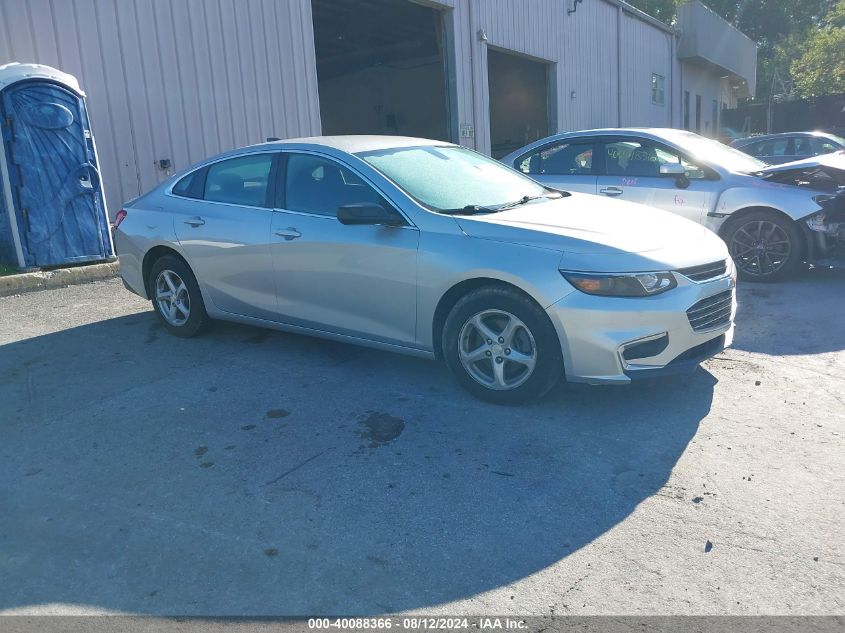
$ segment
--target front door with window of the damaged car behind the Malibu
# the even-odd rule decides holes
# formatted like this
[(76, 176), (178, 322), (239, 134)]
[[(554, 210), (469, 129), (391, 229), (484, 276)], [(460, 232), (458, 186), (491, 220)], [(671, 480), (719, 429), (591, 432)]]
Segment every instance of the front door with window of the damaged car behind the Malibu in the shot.
[[(660, 165), (681, 163), (687, 179), (661, 176)], [(639, 137), (610, 137), (601, 146), (601, 195), (645, 204), (703, 223), (715, 204), (719, 177), (667, 145)], [(687, 186), (683, 186), (687, 184)]]

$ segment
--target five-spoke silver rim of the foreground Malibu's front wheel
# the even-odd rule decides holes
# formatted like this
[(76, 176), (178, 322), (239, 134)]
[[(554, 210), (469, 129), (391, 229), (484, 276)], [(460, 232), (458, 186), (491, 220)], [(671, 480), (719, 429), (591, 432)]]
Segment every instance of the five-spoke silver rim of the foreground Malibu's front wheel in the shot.
[(510, 312), (484, 310), (461, 328), (458, 358), (480, 385), (508, 391), (534, 373), (537, 345), (531, 330)]

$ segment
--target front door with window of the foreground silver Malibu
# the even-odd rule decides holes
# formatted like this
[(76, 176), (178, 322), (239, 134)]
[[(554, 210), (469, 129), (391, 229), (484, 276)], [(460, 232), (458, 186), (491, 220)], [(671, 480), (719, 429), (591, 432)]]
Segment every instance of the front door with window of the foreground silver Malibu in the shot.
[(337, 209), (342, 205), (392, 207), (333, 159), (291, 153), (286, 162), (277, 186), (271, 246), (280, 318), (292, 325), (413, 346), (417, 228), (341, 224)]

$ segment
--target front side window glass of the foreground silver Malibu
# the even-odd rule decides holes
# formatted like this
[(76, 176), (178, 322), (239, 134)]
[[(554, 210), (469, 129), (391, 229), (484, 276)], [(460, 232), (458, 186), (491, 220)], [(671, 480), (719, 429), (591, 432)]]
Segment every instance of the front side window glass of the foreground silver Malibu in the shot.
[(285, 179), (285, 208), (337, 217), (346, 204), (387, 203), (370, 185), (336, 162), (310, 154), (290, 154)]

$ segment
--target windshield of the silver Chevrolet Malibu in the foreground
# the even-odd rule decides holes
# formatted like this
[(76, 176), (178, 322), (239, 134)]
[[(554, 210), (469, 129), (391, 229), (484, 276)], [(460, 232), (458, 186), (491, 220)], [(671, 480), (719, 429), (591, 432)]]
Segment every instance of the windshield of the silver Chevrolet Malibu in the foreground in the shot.
[(463, 147), (397, 147), (357, 156), (434, 211), (495, 208), (548, 193), (530, 178)]

